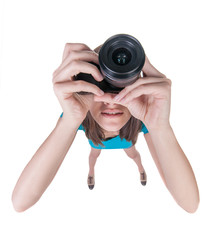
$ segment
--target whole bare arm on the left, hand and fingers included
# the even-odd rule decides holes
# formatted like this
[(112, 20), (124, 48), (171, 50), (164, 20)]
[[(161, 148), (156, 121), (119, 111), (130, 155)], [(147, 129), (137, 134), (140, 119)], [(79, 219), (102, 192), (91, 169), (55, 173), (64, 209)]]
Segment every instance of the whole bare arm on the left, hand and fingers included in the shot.
[[(88, 62), (98, 63), (98, 55), (87, 45), (65, 45), (62, 63), (53, 73), (52, 79), (64, 115), (18, 179), (12, 194), (12, 202), (18, 212), (25, 211), (40, 199), (63, 162), (79, 125), (85, 119), (93, 95), (104, 94), (91, 83), (74, 81), (74, 76), (79, 72), (92, 74), (97, 81), (103, 79), (98, 68)], [(79, 95), (81, 91), (91, 94)]]

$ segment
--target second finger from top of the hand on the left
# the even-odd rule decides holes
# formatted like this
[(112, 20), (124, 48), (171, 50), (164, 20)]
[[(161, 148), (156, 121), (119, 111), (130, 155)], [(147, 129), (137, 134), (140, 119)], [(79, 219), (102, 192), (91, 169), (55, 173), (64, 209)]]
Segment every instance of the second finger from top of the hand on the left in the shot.
[(68, 65), (73, 60), (83, 60), (87, 62), (94, 62), (99, 65), (98, 54), (93, 51), (71, 51), (68, 56), (63, 60), (61, 65), (55, 70), (53, 73), (53, 77), (55, 77), (66, 65)]

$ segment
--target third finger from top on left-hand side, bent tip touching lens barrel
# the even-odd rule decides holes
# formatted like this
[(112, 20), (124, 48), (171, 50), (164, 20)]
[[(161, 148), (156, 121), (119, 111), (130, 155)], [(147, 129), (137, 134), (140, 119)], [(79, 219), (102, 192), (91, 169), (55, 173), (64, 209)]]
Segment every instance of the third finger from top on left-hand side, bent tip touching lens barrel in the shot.
[(102, 81), (103, 76), (96, 66), (91, 63), (83, 62), (80, 60), (73, 60), (67, 66), (65, 66), (55, 77), (53, 77), (53, 83), (64, 82), (71, 80), (71, 77), (78, 73), (88, 73), (93, 76), (96, 81)]

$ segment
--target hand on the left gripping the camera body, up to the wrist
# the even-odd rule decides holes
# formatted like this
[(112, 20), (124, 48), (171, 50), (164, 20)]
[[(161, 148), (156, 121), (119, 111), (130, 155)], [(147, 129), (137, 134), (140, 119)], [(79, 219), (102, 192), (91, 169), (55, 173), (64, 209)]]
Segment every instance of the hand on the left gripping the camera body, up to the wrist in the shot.
[[(64, 117), (80, 123), (85, 119), (90, 104), (93, 102), (93, 94), (97, 96), (104, 94), (94, 84), (82, 80), (74, 81), (75, 75), (80, 72), (91, 74), (96, 81), (103, 80), (98, 68), (88, 62), (99, 64), (98, 54), (85, 44), (67, 43), (62, 63), (53, 73), (52, 79), (54, 92), (63, 109)], [(93, 94), (78, 94), (81, 91)]]

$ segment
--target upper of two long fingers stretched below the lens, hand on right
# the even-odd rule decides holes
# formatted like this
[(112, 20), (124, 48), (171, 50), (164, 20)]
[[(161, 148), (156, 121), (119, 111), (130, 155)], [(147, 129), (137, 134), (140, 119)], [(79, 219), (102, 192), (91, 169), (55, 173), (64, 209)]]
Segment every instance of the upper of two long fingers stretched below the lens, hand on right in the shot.
[(167, 82), (171, 84), (171, 80), (168, 78), (155, 78), (155, 77), (146, 77), (146, 78), (139, 78), (135, 83), (125, 87), (122, 91), (120, 91), (119, 94), (117, 94), (114, 98), (116, 101), (120, 101), (122, 98), (124, 98), (129, 92), (131, 92), (134, 88), (138, 88), (139, 86), (145, 85), (145, 84), (157, 84), (161, 82)]

